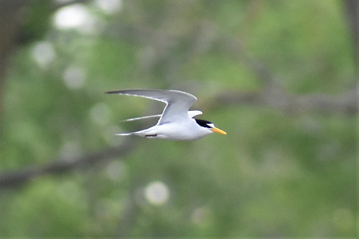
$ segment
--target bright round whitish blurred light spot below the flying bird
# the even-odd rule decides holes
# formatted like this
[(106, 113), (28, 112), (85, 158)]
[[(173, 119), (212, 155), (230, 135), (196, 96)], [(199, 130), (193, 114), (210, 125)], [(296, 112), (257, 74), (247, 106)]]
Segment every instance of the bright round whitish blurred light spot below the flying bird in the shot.
[(162, 182), (152, 182), (145, 189), (146, 199), (155, 205), (162, 205), (168, 201), (168, 187)]

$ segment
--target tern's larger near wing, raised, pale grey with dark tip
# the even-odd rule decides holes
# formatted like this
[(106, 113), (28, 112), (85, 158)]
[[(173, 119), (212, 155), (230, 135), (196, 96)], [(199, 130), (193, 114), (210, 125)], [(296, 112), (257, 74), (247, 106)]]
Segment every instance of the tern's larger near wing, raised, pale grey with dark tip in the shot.
[(167, 105), (157, 124), (187, 121), (190, 119), (188, 109), (197, 100), (195, 96), (178, 90), (117, 90), (106, 93), (140, 96), (165, 102)]

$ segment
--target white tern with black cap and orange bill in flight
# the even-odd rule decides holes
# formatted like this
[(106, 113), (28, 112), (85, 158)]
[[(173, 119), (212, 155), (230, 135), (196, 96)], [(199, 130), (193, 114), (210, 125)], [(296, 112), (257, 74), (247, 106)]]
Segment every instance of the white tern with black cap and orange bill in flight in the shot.
[(193, 118), (202, 114), (202, 112), (199, 110), (188, 111), (197, 100), (194, 95), (189, 93), (178, 90), (116, 90), (106, 93), (140, 96), (166, 103), (163, 113), (160, 115), (125, 120), (160, 117), (155, 126), (137, 132), (116, 135), (138, 135), (151, 139), (196, 140), (213, 132), (227, 134), (223, 130), (216, 128), (210, 121)]

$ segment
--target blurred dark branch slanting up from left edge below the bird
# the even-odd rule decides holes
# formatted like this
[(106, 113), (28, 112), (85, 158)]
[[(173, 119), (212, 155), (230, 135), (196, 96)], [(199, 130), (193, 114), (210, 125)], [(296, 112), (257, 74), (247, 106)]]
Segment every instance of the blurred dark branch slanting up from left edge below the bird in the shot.
[(67, 173), (79, 168), (93, 167), (109, 159), (123, 158), (134, 147), (135, 141), (127, 138), (125, 143), (117, 147), (103, 149), (80, 157), (59, 158), (43, 166), (31, 166), (10, 172), (1, 172), (0, 188), (14, 188), (39, 176)]

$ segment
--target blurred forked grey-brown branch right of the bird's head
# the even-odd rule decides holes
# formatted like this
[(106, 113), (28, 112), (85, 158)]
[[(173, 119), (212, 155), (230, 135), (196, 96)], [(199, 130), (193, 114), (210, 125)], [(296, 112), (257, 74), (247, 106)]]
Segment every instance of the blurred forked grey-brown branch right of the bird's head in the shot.
[[(275, 80), (274, 75), (264, 63), (246, 54), (239, 40), (225, 37), (223, 41), (226, 42), (223, 46), (229, 54), (232, 54), (238, 61), (245, 62), (256, 73), (262, 83), (262, 89), (256, 92), (226, 92), (219, 94), (214, 98), (214, 101), (218, 104), (267, 106), (288, 113), (310, 111), (321, 114), (341, 113), (354, 115), (358, 112), (356, 87), (339, 95), (292, 94)], [(353, 82), (358, 80), (353, 79)]]

